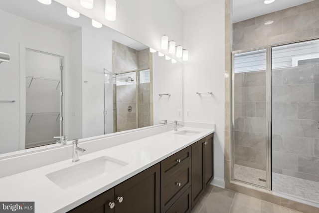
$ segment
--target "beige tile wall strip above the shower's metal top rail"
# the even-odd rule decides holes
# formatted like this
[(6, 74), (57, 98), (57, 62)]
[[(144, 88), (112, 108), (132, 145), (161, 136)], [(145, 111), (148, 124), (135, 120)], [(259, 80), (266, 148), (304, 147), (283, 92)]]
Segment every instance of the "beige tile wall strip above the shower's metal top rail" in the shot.
[[(274, 22), (269, 25), (268, 20)], [(233, 24), (233, 51), (319, 36), (319, 0)]]

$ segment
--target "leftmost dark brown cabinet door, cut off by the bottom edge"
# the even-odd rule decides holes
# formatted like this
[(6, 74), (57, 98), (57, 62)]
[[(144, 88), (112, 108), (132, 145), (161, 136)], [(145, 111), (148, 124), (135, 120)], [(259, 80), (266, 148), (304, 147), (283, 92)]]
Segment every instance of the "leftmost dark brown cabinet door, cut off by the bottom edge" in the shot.
[(114, 202), (114, 189), (96, 196), (68, 213), (114, 213), (114, 208), (111, 209), (109, 206), (112, 202)]

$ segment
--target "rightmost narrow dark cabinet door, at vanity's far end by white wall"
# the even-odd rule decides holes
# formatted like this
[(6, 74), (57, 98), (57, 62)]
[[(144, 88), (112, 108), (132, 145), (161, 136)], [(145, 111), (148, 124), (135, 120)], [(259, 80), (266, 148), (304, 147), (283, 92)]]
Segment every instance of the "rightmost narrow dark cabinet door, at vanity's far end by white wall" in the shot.
[(213, 143), (213, 135), (209, 135), (205, 137), (205, 144), (204, 144), (204, 182), (205, 182), (205, 189), (210, 184), (210, 182), (214, 178), (214, 143)]

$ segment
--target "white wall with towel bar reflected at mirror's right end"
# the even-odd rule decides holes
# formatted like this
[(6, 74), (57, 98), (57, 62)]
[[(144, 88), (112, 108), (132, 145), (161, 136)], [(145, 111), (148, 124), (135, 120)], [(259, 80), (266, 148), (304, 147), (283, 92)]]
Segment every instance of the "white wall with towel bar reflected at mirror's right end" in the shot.
[[(182, 114), (182, 63), (172, 63), (153, 53), (154, 125), (159, 120), (181, 121)], [(159, 94), (167, 94), (170, 96)], [(162, 121), (161, 121), (162, 122)]]

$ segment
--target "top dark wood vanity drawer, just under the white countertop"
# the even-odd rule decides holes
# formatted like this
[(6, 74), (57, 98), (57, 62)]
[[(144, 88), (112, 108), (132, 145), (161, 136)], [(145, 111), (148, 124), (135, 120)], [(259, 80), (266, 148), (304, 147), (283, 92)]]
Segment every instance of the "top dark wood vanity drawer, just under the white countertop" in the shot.
[(183, 166), (190, 166), (190, 146), (160, 162), (160, 177), (164, 180)]

